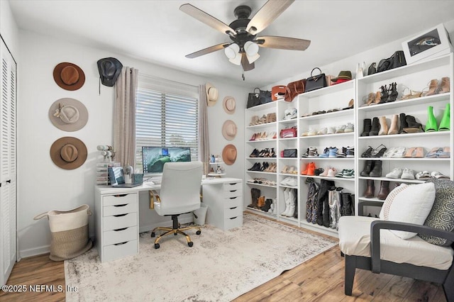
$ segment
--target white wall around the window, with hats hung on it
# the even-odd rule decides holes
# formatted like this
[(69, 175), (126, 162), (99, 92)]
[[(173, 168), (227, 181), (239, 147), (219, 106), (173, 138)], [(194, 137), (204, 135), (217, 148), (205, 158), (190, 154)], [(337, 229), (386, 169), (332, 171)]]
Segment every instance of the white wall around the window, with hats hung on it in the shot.
[[(3, 1), (2, 1), (3, 2)], [(55, 40), (28, 31), (19, 32), (21, 64), (18, 67), (18, 246), (21, 257), (48, 252), (50, 230), (46, 219), (33, 217), (50, 210), (67, 210), (87, 203), (94, 208), (95, 164), (102, 160), (96, 146), (112, 143), (114, 87), (101, 85), (97, 60), (116, 57), (124, 66), (135, 67), (140, 73), (172, 81), (199, 85), (211, 82), (219, 91), (215, 106), (209, 107), (211, 152), (221, 154), (228, 143), (238, 149), (235, 164), (228, 166), (228, 177), (243, 178), (244, 174), (244, 108), (249, 89), (219, 79), (206, 79), (193, 74), (151, 65), (124, 55)], [(76, 91), (67, 91), (55, 84), (52, 71), (60, 62), (72, 62), (84, 70), (85, 84)], [(223, 111), (222, 99), (236, 99), (233, 115)], [(50, 122), (48, 111), (57, 99), (70, 97), (81, 101), (89, 112), (87, 125), (68, 133)], [(227, 141), (221, 134), (224, 121), (232, 119), (239, 126), (238, 135)], [(63, 136), (74, 136), (87, 146), (88, 157), (82, 167), (60, 169), (50, 159), (52, 143)], [(94, 234), (93, 217), (90, 233)]]

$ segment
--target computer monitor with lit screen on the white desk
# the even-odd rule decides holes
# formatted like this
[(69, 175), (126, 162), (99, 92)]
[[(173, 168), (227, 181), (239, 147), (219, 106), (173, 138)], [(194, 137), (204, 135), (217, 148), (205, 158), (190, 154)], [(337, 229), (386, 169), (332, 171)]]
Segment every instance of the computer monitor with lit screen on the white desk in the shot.
[(143, 174), (162, 173), (166, 162), (190, 162), (189, 147), (142, 147)]

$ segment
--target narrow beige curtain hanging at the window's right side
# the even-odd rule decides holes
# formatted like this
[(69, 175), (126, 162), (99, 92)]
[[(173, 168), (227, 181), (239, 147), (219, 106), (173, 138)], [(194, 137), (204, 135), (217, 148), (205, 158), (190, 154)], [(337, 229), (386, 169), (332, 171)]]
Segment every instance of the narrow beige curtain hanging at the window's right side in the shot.
[(205, 85), (199, 85), (199, 150), (200, 160), (204, 163), (204, 174), (210, 172), (210, 140), (208, 136), (208, 111), (206, 110)]

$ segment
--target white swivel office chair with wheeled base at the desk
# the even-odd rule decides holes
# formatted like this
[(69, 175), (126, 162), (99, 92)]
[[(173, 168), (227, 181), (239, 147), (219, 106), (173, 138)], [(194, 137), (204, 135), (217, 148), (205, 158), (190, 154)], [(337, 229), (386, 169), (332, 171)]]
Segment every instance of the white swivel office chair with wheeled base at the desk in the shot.
[(157, 227), (153, 229), (151, 237), (155, 237), (156, 230), (165, 231), (156, 237), (155, 249), (160, 247), (161, 238), (170, 234), (184, 235), (189, 247), (192, 247), (193, 243), (184, 230), (196, 228), (196, 235), (201, 234), (198, 225), (180, 228), (178, 222), (179, 215), (200, 208), (201, 174), (201, 162), (167, 162), (164, 164), (160, 194), (157, 201), (154, 201), (154, 205), (158, 215), (172, 216), (173, 225), (172, 228)]

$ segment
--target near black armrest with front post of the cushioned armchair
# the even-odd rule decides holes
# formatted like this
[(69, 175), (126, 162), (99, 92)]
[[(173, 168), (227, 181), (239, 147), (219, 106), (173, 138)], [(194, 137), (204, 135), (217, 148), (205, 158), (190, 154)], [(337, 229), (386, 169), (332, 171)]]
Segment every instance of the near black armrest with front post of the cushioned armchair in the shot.
[[(404, 230), (422, 235), (441, 237), (454, 241), (454, 233), (427, 225), (415, 225), (413, 223), (401, 223), (398, 221), (375, 220), (370, 224), (370, 253), (372, 258), (372, 272), (380, 273), (380, 230)], [(404, 239), (402, 239), (404, 240)]]

